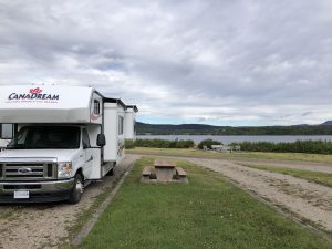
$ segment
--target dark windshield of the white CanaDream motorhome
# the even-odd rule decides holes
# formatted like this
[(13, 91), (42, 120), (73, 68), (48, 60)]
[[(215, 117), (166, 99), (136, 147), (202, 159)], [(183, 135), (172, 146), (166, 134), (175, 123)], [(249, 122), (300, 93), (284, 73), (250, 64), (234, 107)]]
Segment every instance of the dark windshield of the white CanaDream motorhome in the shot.
[(7, 148), (79, 148), (80, 127), (25, 126)]

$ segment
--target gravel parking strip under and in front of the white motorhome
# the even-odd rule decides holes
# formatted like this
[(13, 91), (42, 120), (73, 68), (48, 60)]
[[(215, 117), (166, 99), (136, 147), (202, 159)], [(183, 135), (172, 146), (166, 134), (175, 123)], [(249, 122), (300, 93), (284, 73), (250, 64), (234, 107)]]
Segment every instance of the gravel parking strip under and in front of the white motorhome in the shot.
[(114, 187), (138, 157), (127, 155), (115, 168), (114, 176), (92, 183), (77, 205), (59, 203), (0, 206), (0, 214), (7, 214), (6, 217), (0, 216), (0, 248), (58, 248), (69, 238), (70, 228), (76, 222), (80, 214), (87, 210), (106, 188)]

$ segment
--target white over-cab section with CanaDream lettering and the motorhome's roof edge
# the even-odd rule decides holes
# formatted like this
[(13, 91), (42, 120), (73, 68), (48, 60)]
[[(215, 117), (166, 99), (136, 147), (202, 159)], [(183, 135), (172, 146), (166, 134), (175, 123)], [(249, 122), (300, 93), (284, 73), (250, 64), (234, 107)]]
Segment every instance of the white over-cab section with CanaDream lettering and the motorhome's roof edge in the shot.
[(87, 86), (0, 86), (0, 123), (89, 123), (93, 96), (127, 108)]

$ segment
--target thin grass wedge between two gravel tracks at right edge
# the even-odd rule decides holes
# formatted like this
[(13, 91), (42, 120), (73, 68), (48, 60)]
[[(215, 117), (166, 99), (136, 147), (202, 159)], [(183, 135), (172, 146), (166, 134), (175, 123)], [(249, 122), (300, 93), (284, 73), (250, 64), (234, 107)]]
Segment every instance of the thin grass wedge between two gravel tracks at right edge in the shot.
[(313, 172), (298, 168), (287, 168), (271, 165), (253, 165), (253, 164), (242, 164), (246, 167), (258, 168), (273, 173), (281, 173), (284, 175), (294, 176), (301, 179), (307, 179), (309, 181), (313, 181), (317, 184), (325, 185), (328, 187), (332, 187), (332, 174), (322, 173), (322, 172)]

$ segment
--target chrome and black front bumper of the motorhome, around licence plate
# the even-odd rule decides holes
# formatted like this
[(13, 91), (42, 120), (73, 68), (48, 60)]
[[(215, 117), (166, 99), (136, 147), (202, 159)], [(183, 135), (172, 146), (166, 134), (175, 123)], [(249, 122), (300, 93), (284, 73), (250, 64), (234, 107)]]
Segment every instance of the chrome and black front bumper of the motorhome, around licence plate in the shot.
[[(0, 204), (49, 203), (69, 199), (74, 178), (52, 181), (0, 181)], [(15, 190), (29, 190), (29, 198), (15, 199)]]

